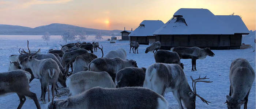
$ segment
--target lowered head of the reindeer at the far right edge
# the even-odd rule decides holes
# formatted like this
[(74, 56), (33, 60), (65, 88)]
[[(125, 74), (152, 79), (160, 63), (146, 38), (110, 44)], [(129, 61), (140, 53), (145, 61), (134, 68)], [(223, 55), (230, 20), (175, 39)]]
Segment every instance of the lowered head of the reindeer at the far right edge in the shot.
[(230, 96), (226, 96), (226, 97), (227, 97), (227, 100), (225, 103), (227, 103), (227, 109), (240, 109), (242, 104), (244, 104), (244, 106), (245, 106), (246, 100), (234, 100)]

